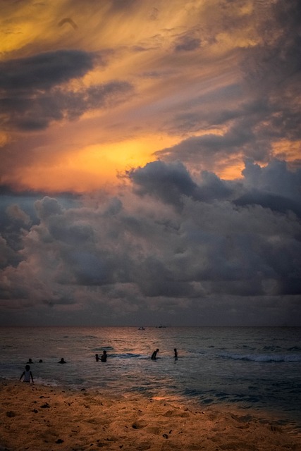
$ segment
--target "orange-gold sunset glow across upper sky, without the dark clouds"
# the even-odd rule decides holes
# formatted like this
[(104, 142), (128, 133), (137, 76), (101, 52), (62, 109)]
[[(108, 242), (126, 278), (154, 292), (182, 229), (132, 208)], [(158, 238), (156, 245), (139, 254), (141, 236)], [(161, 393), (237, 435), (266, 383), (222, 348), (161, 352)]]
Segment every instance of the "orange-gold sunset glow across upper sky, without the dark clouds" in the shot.
[[(206, 133), (209, 117), (219, 110), (240, 108), (245, 101), (242, 92), (229, 96), (227, 89), (242, 81), (241, 51), (262, 44), (258, 27), (264, 17), (259, 17), (252, 1), (233, 4), (228, 11), (218, 5), (195, 0), (183, 8), (180, 0), (164, 6), (145, 1), (135, 10), (129, 5), (118, 11), (110, 1), (97, 9), (89, 2), (85, 6), (75, 2), (67, 13), (67, 3), (62, 1), (27, 1), (20, 9), (7, 4), (1, 19), (4, 63), (17, 64), (19, 58), (63, 49), (92, 52), (93, 62), (80, 76), (63, 78), (59, 84), (49, 80), (49, 87), (30, 94), (36, 104), (35, 114), (47, 113), (41, 118), (43, 123), (34, 120), (30, 111), (20, 111), (21, 127), (11, 122), (13, 116), (4, 118), (8, 139), (20, 140), (20, 152), (27, 152), (29, 128), (31, 134), (36, 129), (39, 151), (30, 166), (24, 161), (12, 171), (4, 170), (2, 182), (9, 184), (11, 180), (14, 185), (20, 183), (34, 190), (75, 192), (116, 184), (117, 176), (129, 166), (143, 166), (154, 159), (154, 152)], [(268, 11), (268, 6), (265, 8)], [(233, 20), (233, 24), (237, 20), (239, 26), (232, 26), (230, 31), (221, 24), (225, 19)], [(32, 73), (32, 80), (35, 76), (39, 77)], [(87, 97), (88, 89), (94, 98)], [(65, 97), (61, 104), (60, 92)], [(42, 106), (49, 95), (52, 99), (58, 96), (54, 111)], [(78, 104), (79, 97), (86, 106)], [(199, 116), (198, 124), (183, 119), (193, 115)], [(68, 118), (72, 122), (66, 123)], [(61, 120), (65, 125), (62, 122), (58, 132)], [(44, 124), (46, 140), (40, 131)], [(49, 137), (52, 147), (47, 144)], [(292, 154), (291, 147), (294, 144), (286, 140), (283, 152)], [(31, 146), (28, 151), (32, 151)], [(53, 156), (48, 159), (49, 153)], [(222, 178), (240, 177), (243, 155), (238, 149), (234, 163), (230, 155), (228, 160), (224, 155), (222, 163), (219, 158), (211, 160), (210, 170)], [(202, 163), (200, 152), (199, 168), (207, 164)]]

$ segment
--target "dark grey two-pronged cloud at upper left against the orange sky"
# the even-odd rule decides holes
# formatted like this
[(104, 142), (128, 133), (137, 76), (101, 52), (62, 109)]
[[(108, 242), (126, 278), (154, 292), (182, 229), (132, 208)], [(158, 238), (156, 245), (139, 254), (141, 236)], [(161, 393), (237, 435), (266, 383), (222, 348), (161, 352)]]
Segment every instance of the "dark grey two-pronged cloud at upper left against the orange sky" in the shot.
[(85, 51), (61, 50), (0, 63), (3, 128), (43, 130), (52, 121), (72, 120), (124, 101), (133, 92), (128, 82), (112, 80), (76, 91), (61, 86), (85, 75), (95, 59)]

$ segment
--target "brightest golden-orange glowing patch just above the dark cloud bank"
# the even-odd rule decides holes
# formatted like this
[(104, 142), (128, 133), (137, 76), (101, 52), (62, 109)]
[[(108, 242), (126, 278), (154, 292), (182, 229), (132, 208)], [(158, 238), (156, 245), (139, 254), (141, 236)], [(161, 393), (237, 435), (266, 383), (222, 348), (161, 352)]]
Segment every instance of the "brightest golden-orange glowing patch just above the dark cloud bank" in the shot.
[(32, 163), (16, 175), (16, 181), (33, 190), (51, 192), (85, 192), (113, 187), (118, 183), (118, 175), (130, 168), (144, 166), (154, 160), (152, 154), (157, 149), (173, 144), (176, 144), (176, 138), (167, 136), (94, 144), (57, 156), (52, 162)]

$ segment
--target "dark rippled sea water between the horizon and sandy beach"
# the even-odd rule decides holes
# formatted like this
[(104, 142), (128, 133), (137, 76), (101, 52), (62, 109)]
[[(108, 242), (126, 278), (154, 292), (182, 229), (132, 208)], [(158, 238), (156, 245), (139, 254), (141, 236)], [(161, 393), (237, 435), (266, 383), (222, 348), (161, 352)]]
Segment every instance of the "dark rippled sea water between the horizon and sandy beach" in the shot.
[(301, 428), (301, 328), (0, 328), (0, 377), (17, 381), (30, 358), (35, 383), (235, 405)]

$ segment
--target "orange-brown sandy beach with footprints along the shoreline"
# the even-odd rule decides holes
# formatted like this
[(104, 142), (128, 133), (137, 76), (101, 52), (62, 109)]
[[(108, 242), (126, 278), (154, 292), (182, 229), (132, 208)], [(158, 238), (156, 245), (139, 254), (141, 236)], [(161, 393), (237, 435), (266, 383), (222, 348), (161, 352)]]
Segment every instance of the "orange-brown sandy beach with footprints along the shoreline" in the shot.
[(301, 450), (301, 435), (245, 411), (0, 381), (0, 451)]

